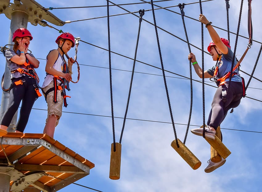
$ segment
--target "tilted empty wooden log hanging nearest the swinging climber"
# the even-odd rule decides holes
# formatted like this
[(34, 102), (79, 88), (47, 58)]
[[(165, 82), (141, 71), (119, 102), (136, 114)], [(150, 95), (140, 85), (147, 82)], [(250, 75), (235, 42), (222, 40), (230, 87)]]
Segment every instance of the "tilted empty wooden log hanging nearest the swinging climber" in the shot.
[(178, 145), (176, 140), (172, 141), (171, 146), (178, 152), (178, 154), (192, 167), (196, 170), (201, 166), (199, 159), (178, 139)]

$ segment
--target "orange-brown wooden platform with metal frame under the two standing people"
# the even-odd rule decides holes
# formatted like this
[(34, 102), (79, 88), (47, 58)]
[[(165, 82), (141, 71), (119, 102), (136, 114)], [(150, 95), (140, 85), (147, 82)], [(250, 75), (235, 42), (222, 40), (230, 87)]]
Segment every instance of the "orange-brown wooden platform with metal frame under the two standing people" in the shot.
[(94, 163), (46, 134), (9, 132), (0, 137), (0, 141), (10, 163), (14, 165), (14, 168), (8, 166), (0, 146), (0, 169), (10, 168), (10, 189), (14, 187), (13, 184), (18, 187), (23, 184), (24, 176), (39, 173), (40, 178), (24, 191), (54, 192), (87, 176), (89, 170), (95, 167)]

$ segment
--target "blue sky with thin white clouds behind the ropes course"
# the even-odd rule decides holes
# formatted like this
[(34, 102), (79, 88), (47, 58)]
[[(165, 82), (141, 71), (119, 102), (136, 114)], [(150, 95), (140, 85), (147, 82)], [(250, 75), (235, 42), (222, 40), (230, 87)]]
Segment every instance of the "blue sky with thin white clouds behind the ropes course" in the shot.
[[(11, 1), (12, 2), (12, 1)], [(44, 7), (76, 7), (106, 5), (106, 1), (38, 1)], [(116, 4), (132, 3), (141, 1), (113, 1)], [(193, 0), (167, 1), (155, 3), (166, 7), (178, 5), (179, 3), (198, 2)], [(230, 10), (230, 31), (236, 32), (239, 18), (240, 0), (229, 1)], [(225, 1), (214, 0), (203, 2), (203, 14), (213, 22), (213, 25), (227, 29)], [(261, 42), (261, 1), (252, 1), (253, 40)], [(140, 9), (151, 9), (149, 4), (123, 6), (129, 11)], [(248, 2), (245, 0), (241, 18), (239, 34), (247, 37), (247, 12)], [(178, 7), (170, 10), (180, 13)], [(198, 19), (199, 4), (185, 6), (185, 15)], [(54, 9), (55, 14), (63, 21), (75, 21), (79, 19), (95, 18), (107, 15), (106, 7), (83, 8), (83, 9)], [(118, 7), (110, 7), (110, 15), (125, 13)], [(181, 16), (167, 10), (155, 10), (157, 25), (185, 38)], [(144, 19), (154, 22), (152, 11), (146, 11)], [(0, 45), (8, 44), (10, 20), (4, 14), (0, 15), (2, 24)], [(82, 22), (65, 24), (62, 27), (64, 32), (70, 32), (75, 37), (88, 43), (108, 49), (107, 18), (92, 19)], [(201, 47), (201, 24), (189, 18), (185, 18), (188, 38), (191, 44)], [(40, 58), (40, 66), (36, 69), (40, 83), (45, 77), (45, 57), (49, 50), (56, 49), (55, 39), (59, 36), (58, 31), (40, 25), (33, 26), (28, 23), (34, 39), (29, 49), (35, 57)], [(111, 51), (120, 53), (127, 57), (134, 57), (137, 40), (138, 18), (131, 15), (110, 17)], [(227, 38), (227, 32), (217, 29), (221, 37)], [(176, 37), (158, 29), (164, 68), (166, 70), (189, 77), (189, 63), (187, 60), (188, 47)], [(235, 45), (235, 35), (230, 35), (231, 47)], [(211, 38), (204, 28), (204, 47), (206, 48)], [(239, 37), (236, 56), (240, 58), (244, 53), (248, 40)], [(248, 51), (241, 64), (241, 70), (252, 72), (260, 44), (253, 42), (252, 48)], [(196, 55), (197, 61), (201, 63), (201, 51), (191, 46), (192, 52)], [(68, 53), (74, 56), (74, 49)], [(212, 58), (204, 55), (205, 70), (215, 65)], [(112, 68), (121, 70), (132, 70), (133, 61), (111, 54)], [(141, 23), (141, 34), (137, 51), (137, 60), (150, 65), (161, 67), (155, 29), (147, 22)], [(5, 58), (0, 55), (2, 69), (4, 72)], [(149, 121), (126, 120), (125, 130), (122, 139), (121, 154), (121, 178), (111, 180), (109, 176), (110, 148), (113, 142), (110, 89), (109, 89), (109, 62), (108, 52), (92, 45), (80, 42), (77, 61), (80, 65), (80, 81), (78, 84), (71, 84), (71, 91), (67, 95), (68, 107), (63, 107), (63, 115), (59, 125), (55, 129), (55, 139), (69, 147), (84, 158), (95, 164), (90, 170), (90, 175), (80, 179), (77, 183), (95, 188), (104, 192), (258, 192), (261, 190), (262, 163), (260, 153), (262, 142), (261, 133), (233, 131), (227, 129), (239, 129), (261, 132), (261, 108), (259, 101), (244, 98), (234, 112), (227, 115), (221, 124), (223, 132), (223, 143), (232, 152), (226, 163), (207, 174), (204, 172), (207, 160), (210, 158), (210, 146), (205, 139), (188, 134), (186, 146), (202, 162), (201, 167), (193, 170), (174, 149), (170, 146), (174, 138), (173, 127), (170, 123), (157, 123)], [(261, 60), (258, 62), (255, 77), (261, 79)], [(151, 120), (171, 122), (170, 113), (166, 98), (162, 71), (148, 65), (137, 62), (136, 72), (133, 79), (133, 88), (129, 103), (127, 118), (139, 120)], [(76, 80), (77, 68), (73, 66), (73, 79)], [(150, 74), (144, 74), (150, 73)], [(246, 82), (248, 76), (241, 74)], [(175, 123), (186, 124), (190, 109), (190, 81), (177, 78), (174, 74), (166, 72), (167, 86)], [(112, 70), (113, 83), (113, 104), (115, 118), (116, 141), (119, 142), (122, 123), (125, 114), (126, 101), (129, 91), (131, 72)], [(201, 80), (193, 71), (193, 79)], [(209, 80), (206, 80), (209, 82)], [(211, 84), (211, 83), (210, 83)], [(261, 100), (261, 83), (252, 80), (247, 96)], [(206, 120), (211, 107), (211, 101), (215, 88), (205, 86), (205, 108)], [(47, 104), (43, 97), (40, 97), (33, 107), (30, 120), (25, 132), (42, 133), (47, 117)], [(41, 110), (39, 110), (41, 109)], [(68, 113), (67, 113), (68, 112)], [(72, 112), (72, 113), (69, 113)], [(80, 114), (76, 114), (80, 113)], [(99, 116), (96, 116), (99, 115)], [(203, 123), (202, 113), (202, 84), (193, 81), (193, 110), (192, 125)], [(178, 138), (183, 140), (186, 125), (176, 124)], [(196, 128), (190, 126), (190, 129)], [(224, 129), (223, 129), (224, 128)], [(70, 185), (60, 190), (67, 191), (91, 191), (80, 186)]]

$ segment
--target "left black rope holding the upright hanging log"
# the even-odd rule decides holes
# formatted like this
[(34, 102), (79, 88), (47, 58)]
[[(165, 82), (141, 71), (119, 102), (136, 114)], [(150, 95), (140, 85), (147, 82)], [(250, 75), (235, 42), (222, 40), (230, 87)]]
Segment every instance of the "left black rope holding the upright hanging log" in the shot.
[(115, 151), (116, 151), (116, 138), (115, 138), (115, 123), (114, 123), (114, 108), (113, 108), (113, 91), (112, 91), (111, 49), (110, 49), (110, 25), (109, 25), (109, 2), (108, 2), (108, 0), (107, 0), (107, 28), (108, 28), (108, 57), (109, 57), (109, 79), (110, 79), (111, 113), (112, 113), (112, 127), (113, 127), (113, 143), (114, 143), (114, 152), (115, 152)]

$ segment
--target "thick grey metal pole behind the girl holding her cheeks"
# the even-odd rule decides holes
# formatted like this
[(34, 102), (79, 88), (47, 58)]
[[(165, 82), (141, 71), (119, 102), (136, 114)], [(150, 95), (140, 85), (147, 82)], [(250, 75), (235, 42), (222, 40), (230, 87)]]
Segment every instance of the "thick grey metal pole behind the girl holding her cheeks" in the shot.
[[(11, 23), (10, 23), (10, 33), (9, 33), (9, 41), (8, 44), (14, 44), (12, 42), (12, 37), (13, 33), (16, 29), (18, 28), (27, 28), (27, 22), (28, 22), (28, 14), (25, 13), (24, 11), (20, 10), (15, 10), (12, 12), (12, 18), (11, 18)], [(10, 87), (11, 80), (10, 80), (10, 69), (7, 66), (6, 63), (6, 68), (5, 68), (5, 77), (4, 77), (4, 88)], [(0, 119), (2, 120), (2, 117), (7, 109), (7, 105), (9, 102), (9, 92), (3, 91), (2, 93), (2, 100), (1, 100), (1, 108), (0, 108)], [(16, 126), (16, 121), (17, 121), (17, 112), (15, 113), (11, 124), (7, 131), (9, 132), (14, 132), (14, 127)], [(14, 125), (14, 126), (13, 126)]]

